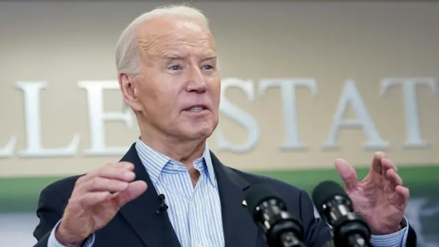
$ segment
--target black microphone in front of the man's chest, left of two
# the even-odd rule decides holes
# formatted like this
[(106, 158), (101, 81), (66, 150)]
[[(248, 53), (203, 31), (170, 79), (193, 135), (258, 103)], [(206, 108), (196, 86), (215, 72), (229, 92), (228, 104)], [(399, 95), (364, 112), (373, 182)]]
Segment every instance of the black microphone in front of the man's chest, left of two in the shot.
[(262, 185), (252, 185), (246, 195), (248, 211), (263, 229), (270, 247), (305, 247), (300, 220), (287, 212), (285, 202), (275, 191)]

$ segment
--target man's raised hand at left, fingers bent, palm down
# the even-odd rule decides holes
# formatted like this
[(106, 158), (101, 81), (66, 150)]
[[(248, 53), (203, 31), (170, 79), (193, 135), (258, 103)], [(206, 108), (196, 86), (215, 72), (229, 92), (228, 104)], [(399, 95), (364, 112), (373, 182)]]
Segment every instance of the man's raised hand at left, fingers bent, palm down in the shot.
[(81, 246), (94, 231), (104, 227), (117, 211), (143, 193), (147, 185), (134, 181), (134, 165), (106, 165), (76, 181), (55, 237), (64, 246)]

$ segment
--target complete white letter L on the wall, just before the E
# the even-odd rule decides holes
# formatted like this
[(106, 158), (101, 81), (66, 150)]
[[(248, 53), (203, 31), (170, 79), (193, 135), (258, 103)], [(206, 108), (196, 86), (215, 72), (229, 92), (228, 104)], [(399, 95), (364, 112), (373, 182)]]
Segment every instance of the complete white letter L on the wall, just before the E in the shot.
[(17, 89), (23, 91), (25, 108), (26, 149), (19, 156), (26, 158), (73, 156), (78, 151), (80, 134), (76, 133), (66, 148), (43, 149), (41, 144), (40, 92), (47, 82), (16, 82)]

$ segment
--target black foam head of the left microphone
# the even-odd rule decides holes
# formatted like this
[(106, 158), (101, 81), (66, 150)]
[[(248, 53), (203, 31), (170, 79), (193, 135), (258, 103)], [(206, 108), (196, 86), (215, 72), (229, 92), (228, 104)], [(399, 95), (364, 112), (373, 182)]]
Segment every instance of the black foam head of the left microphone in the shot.
[(254, 217), (257, 213), (257, 207), (259, 207), (262, 202), (270, 199), (275, 199), (278, 200), (278, 202), (283, 202), (281, 196), (278, 196), (276, 191), (270, 189), (270, 187), (265, 187), (263, 185), (252, 185), (248, 189), (246, 194), (247, 209)]

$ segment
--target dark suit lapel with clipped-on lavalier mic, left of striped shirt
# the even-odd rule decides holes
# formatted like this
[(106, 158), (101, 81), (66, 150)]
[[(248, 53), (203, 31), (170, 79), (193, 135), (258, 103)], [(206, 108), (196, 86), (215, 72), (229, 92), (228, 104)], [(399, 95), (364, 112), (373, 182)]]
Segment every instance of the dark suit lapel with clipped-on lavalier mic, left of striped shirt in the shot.
[(119, 213), (123, 215), (132, 226), (134, 231), (142, 239), (143, 244), (148, 247), (180, 247), (180, 242), (166, 211), (159, 215), (154, 215), (160, 206), (156, 188), (152, 184), (150, 176), (147, 174), (145, 167), (141, 163), (135, 143), (123, 156), (121, 161), (128, 161), (134, 164), (136, 180), (143, 180), (147, 184), (147, 189), (139, 198), (128, 202), (121, 208)]

